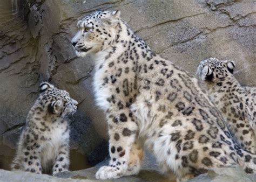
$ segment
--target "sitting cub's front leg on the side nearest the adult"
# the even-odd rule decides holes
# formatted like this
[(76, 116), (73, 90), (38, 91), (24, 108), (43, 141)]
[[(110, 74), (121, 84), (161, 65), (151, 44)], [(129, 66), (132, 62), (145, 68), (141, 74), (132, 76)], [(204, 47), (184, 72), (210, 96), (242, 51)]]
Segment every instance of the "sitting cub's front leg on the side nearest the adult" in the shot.
[(55, 176), (58, 172), (69, 170), (69, 145), (63, 144), (59, 148), (58, 156), (52, 167), (52, 175)]

